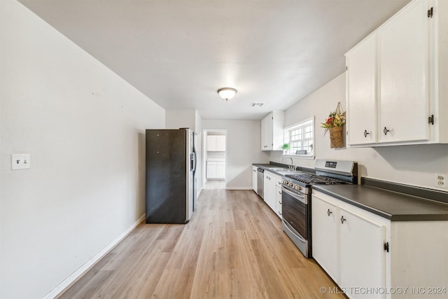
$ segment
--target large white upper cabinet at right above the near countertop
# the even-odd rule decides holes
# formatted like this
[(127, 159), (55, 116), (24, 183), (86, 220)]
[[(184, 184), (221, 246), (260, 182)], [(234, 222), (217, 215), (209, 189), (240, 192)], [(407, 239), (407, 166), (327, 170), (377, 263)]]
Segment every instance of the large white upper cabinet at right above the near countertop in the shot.
[(447, 7), (414, 0), (346, 53), (349, 145), (448, 143)]

